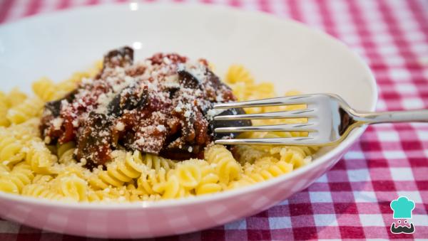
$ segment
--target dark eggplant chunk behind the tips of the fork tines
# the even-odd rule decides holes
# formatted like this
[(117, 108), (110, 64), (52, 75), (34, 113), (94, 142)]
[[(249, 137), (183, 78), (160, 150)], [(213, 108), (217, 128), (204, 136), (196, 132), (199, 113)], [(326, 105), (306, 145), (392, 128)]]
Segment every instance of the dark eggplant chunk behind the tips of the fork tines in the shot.
[[(234, 108), (234, 109), (226, 109), (221, 112), (217, 116), (221, 115), (230, 115), (230, 114), (245, 114), (245, 110), (243, 108)], [(215, 133), (214, 129), (219, 127), (249, 127), (251, 126), (251, 121), (249, 119), (241, 119), (241, 120), (230, 120), (230, 121), (216, 121), (212, 120), (210, 122), (210, 131), (214, 135), (214, 139), (223, 139), (225, 137), (235, 138), (239, 133)]]

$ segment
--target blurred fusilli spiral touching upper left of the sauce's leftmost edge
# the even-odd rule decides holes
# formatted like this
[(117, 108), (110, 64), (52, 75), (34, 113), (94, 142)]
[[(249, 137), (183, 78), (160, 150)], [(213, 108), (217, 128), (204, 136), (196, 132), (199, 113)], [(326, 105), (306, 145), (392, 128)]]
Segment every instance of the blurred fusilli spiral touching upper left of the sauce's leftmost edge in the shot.
[(32, 117), (39, 116), (44, 107), (44, 102), (39, 97), (24, 100), (19, 105), (11, 107), (6, 114), (6, 118), (13, 124), (20, 124)]

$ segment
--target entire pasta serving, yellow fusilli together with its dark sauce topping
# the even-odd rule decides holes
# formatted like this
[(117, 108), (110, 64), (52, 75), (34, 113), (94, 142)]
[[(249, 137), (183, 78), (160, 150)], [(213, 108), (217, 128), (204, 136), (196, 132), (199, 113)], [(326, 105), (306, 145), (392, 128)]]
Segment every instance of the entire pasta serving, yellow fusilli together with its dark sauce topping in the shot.
[[(68, 80), (42, 77), (32, 85), (34, 96), (18, 89), (0, 92), (0, 191), (71, 202), (156, 201), (252, 185), (312, 161), (315, 147), (213, 144), (234, 137), (213, 134), (213, 117), (222, 114), (211, 109), (213, 104), (276, 96), (270, 82), (255, 82), (242, 65), (231, 65), (221, 82), (206, 60), (156, 54), (132, 61), (132, 50), (121, 48)], [(306, 135), (248, 132), (240, 137)]]

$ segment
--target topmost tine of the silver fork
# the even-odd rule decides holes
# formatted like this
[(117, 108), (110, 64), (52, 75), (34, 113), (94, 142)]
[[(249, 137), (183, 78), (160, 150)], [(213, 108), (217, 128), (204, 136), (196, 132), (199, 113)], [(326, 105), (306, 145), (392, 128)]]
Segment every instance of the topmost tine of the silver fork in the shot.
[(230, 109), (230, 108), (245, 108), (245, 107), (265, 107), (277, 105), (300, 105), (309, 104), (312, 101), (313, 95), (293, 95), (286, 97), (276, 97), (263, 100), (249, 100), (243, 102), (230, 102), (214, 105), (214, 109)]

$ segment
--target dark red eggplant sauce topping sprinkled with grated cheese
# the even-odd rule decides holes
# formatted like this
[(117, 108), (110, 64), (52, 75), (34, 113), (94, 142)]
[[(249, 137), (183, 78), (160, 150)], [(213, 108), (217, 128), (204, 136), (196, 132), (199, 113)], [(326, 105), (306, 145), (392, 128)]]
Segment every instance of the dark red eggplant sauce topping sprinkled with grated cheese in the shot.
[(48, 144), (75, 141), (76, 158), (88, 168), (106, 164), (120, 148), (175, 160), (203, 158), (215, 137), (230, 136), (214, 136), (213, 129), (227, 123), (211, 121), (219, 114), (213, 105), (230, 101), (235, 101), (232, 91), (206, 60), (157, 53), (133, 63), (133, 50), (125, 47), (104, 56), (103, 70), (93, 80), (47, 103), (40, 129)]

